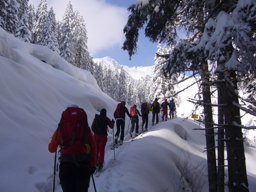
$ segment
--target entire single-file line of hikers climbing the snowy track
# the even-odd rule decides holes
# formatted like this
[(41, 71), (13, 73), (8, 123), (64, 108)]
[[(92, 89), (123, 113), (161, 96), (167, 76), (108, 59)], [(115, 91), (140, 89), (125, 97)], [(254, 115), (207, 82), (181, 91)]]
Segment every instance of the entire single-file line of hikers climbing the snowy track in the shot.
[[(171, 105), (171, 103), (173, 103)], [(159, 122), (160, 109), (163, 109), (162, 119), (167, 120), (168, 106), (170, 108), (170, 118), (174, 118), (175, 104), (173, 99), (167, 99), (160, 105), (157, 98), (152, 104), (144, 102), (141, 105), (141, 113), (137, 105), (131, 107), (130, 112), (125, 107), (126, 102), (120, 102), (111, 120), (107, 116), (107, 110), (103, 108), (100, 114), (95, 114), (91, 128), (88, 125), (87, 114), (84, 109), (77, 105), (69, 105), (62, 112), (58, 128), (52, 135), (48, 149), (55, 152), (55, 162), (57, 148), (60, 146), (60, 166), (59, 179), (63, 192), (87, 192), (90, 184), (90, 177), (96, 171), (101, 172), (104, 163), (105, 146), (108, 141), (108, 127), (113, 129), (116, 122), (116, 134), (114, 143), (123, 144), (125, 131), (125, 113), (131, 119), (132, 137), (134, 128), (135, 135), (139, 135), (139, 116), (142, 117), (142, 131), (148, 131), (148, 114), (152, 111), (152, 125), (156, 116), (156, 123)], [(167, 106), (167, 107), (166, 107)], [(119, 134), (120, 140), (118, 142)], [(56, 165), (56, 163), (55, 163)], [(55, 167), (54, 183), (55, 185)], [(54, 187), (54, 186), (53, 186)], [(95, 186), (94, 186), (95, 187)]]

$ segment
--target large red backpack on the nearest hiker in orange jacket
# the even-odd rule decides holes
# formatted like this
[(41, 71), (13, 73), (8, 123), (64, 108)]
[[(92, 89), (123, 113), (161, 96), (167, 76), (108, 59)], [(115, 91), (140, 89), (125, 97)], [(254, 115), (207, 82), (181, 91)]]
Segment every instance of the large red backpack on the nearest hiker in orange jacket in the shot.
[(92, 157), (86, 137), (90, 133), (90, 127), (85, 111), (82, 108), (67, 108), (61, 115), (58, 128), (61, 134), (60, 162), (79, 166), (79, 162), (86, 161), (90, 165)]

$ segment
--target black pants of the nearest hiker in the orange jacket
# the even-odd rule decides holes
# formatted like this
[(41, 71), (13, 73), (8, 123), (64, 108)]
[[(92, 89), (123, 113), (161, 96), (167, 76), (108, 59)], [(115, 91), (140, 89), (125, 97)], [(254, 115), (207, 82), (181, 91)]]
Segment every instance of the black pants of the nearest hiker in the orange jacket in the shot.
[(88, 192), (90, 185), (91, 168), (74, 163), (60, 164), (60, 183), (63, 192)]

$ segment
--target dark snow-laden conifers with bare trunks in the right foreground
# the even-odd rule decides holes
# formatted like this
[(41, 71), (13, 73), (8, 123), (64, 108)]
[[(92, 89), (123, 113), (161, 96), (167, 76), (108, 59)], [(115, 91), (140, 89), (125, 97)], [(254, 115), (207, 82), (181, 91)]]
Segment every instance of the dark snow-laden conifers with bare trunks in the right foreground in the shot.
[[(249, 191), (242, 128), (256, 127), (241, 125), (241, 116), (256, 116), (256, 1), (142, 0), (129, 10), (123, 49), (130, 57), (145, 27), (150, 41), (172, 46), (157, 54), (163, 59), (162, 73), (170, 79), (189, 73), (190, 82), (199, 85), (191, 102), (204, 109), (209, 191), (224, 192), (225, 185), (230, 192)], [(179, 30), (186, 38), (179, 38)], [(218, 123), (213, 122), (216, 115)]]

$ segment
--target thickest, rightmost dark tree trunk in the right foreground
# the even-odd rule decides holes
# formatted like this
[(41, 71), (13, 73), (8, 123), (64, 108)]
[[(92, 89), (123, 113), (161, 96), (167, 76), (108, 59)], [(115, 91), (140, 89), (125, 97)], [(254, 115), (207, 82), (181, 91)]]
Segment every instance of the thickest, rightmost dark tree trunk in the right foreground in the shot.
[(222, 94), (224, 103), (225, 141), (227, 146), (228, 188), (230, 192), (248, 192), (248, 180), (244, 155), (244, 140), (241, 128), (240, 110), (233, 102), (239, 103), (236, 72), (224, 73), (229, 81), (224, 84), (225, 93)]

